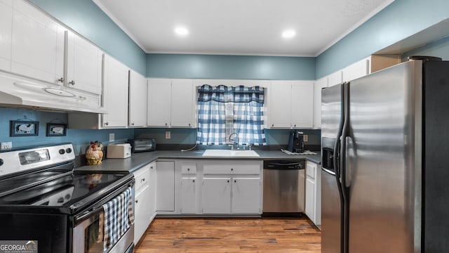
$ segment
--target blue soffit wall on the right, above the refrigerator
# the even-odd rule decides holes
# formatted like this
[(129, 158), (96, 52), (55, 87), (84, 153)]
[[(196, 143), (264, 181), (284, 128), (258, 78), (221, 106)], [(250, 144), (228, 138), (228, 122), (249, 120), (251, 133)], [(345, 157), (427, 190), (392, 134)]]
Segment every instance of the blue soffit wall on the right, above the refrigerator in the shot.
[(449, 18), (447, 0), (396, 0), (316, 58), (316, 78)]

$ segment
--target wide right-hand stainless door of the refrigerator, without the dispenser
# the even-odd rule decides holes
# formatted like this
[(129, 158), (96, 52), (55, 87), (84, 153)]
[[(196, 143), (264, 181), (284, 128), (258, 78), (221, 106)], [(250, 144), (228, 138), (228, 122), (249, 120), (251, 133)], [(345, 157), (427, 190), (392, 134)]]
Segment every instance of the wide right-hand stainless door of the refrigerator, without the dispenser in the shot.
[[(420, 247), (422, 63), (410, 61), (349, 84), (349, 252), (410, 253)], [(416, 141), (416, 143), (415, 143)], [(419, 148), (419, 147), (418, 147)], [(419, 157), (416, 157), (419, 159)], [(418, 161), (419, 162), (419, 161)], [(416, 219), (416, 221), (415, 221)]]

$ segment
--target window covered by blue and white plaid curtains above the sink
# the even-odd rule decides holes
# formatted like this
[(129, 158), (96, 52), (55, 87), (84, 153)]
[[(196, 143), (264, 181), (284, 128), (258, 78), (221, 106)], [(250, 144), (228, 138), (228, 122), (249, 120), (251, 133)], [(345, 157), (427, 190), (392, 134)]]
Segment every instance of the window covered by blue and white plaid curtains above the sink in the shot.
[(264, 89), (260, 86), (228, 87), (205, 84), (198, 90), (198, 134), (201, 145), (223, 145), (233, 141), (267, 145), (264, 134)]

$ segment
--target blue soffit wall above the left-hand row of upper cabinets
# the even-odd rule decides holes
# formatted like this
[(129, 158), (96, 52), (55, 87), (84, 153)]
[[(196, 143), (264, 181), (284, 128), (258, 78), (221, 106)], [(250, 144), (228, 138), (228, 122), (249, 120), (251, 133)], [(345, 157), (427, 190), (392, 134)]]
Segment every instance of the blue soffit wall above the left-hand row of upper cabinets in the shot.
[(146, 54), (91, 0), (29, 0), (136, 72), (145, 75)]

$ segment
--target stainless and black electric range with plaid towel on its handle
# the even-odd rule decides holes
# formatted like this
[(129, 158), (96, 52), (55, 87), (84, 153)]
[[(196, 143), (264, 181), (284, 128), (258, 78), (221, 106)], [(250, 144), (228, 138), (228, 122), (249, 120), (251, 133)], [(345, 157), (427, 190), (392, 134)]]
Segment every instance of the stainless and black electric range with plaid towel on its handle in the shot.
[[(133, 174), (76, 171), (73, 150), (63, 143), (0, 153), (2, 242), (32, 240), (39, 252), (131, 252)], [(102, 228), (111, 231), (106, 221), (119, 219), (105, 209), (114, 201), (128, 205), (112, 239)]]

